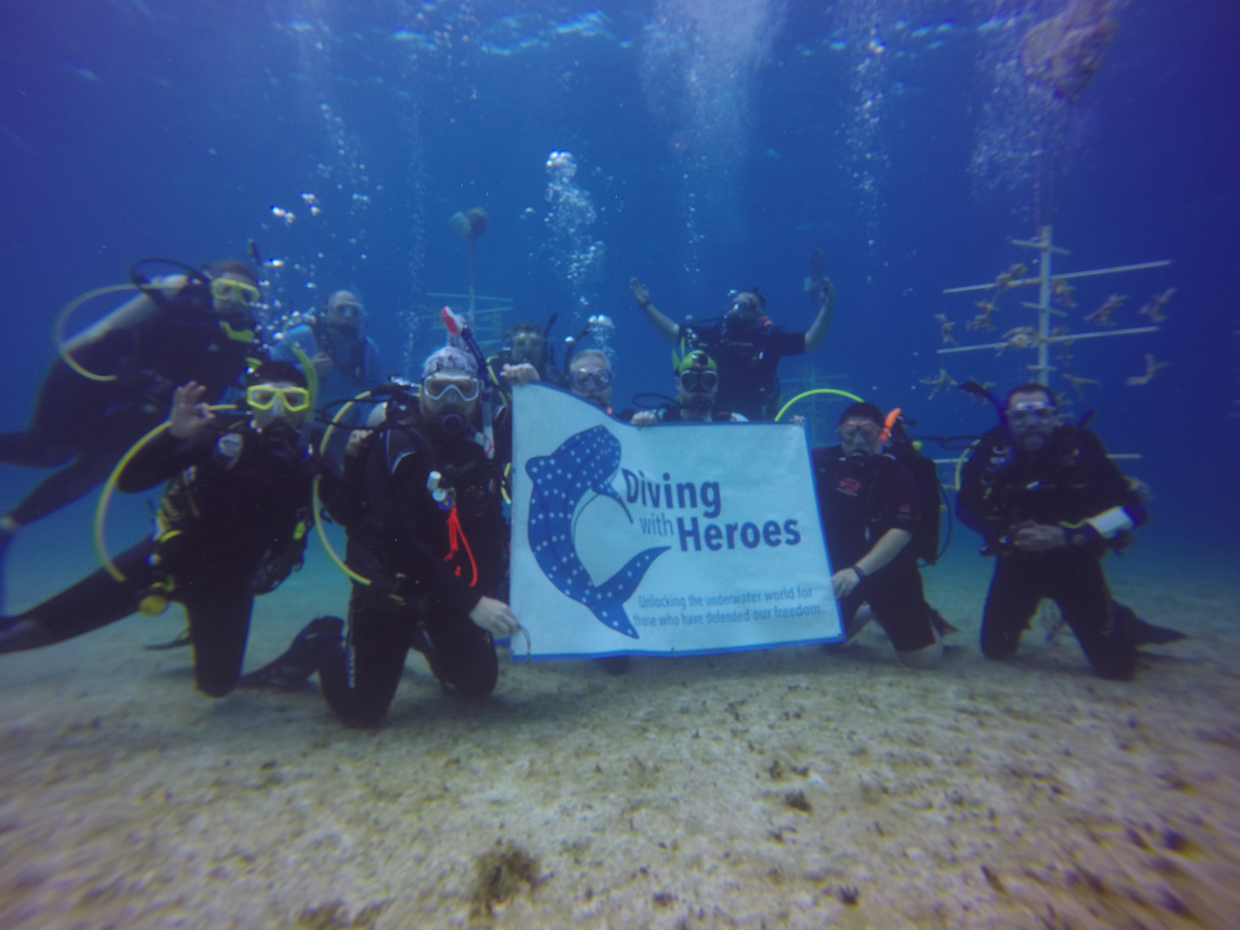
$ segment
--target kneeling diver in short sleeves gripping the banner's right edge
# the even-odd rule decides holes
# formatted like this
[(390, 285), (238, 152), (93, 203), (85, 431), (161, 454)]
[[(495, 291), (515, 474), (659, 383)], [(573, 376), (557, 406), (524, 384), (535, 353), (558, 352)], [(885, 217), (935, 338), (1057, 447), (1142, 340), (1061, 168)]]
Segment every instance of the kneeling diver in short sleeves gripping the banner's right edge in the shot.
[[(926, 511), (937, 513), (939, 494), (936, 486), (923, 489), (892, 453), (893, 428), (894, 415), (884, 419), (874, 404), (854, 403), (839, 415), (841, 444), (813, 450), (818, 508), (837, 567), (831, 587), (847, 640), (868, 622), (861, 613), (868, 603), (900, 662), (932, 668), (942, 660), (942, 635), (954, 631), (926, 603), (918, 570), (919, 557), (932, 562), (937, 556), (939, 523), (928, 521)], [(931, 500), (926, 491), (934, 492)]]

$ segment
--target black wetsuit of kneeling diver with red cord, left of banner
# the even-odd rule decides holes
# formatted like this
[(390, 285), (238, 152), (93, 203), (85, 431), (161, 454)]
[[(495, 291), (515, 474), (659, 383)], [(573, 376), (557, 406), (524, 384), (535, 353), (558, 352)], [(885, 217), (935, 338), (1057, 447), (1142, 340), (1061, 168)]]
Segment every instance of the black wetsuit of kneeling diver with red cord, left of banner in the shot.
[[(353, 583), (345, 650), (322, 645), (316, 656), (324, 696), (348, 725), (383, 718), (410, 646), (461, 694), (490, 694), (498, 677), (491, 635), (469, 618), (506, 583), (496, 464), (474, 434), (449, 436), (415, 405), (398, 415), (361, 456), (347, 456), (330, 503), (348, 533), (347, 564), (371, 579)], [(432, 496), (432, 471), (455, 508)]]

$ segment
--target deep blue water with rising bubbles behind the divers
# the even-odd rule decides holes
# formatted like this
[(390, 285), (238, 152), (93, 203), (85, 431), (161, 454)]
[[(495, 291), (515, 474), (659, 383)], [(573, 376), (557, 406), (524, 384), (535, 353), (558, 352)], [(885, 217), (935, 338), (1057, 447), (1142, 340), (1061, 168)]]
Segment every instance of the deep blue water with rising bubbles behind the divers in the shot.
[[(1143, 456), (1127, 467), (1156, 494), (1142, 542), (1154, 564), (1234, 565), (1240, 11), (1122, 5), (1101, 69), (1066, 105), (1030, 93), (1014, 58), (1061, 7), (11, 0), (0, 428), (25, 424), (67, 300), (123, 281), (140, 255), (242, 255), (249, 237), (283, 263), (268, 269), (280, 310), (357, 289), (384, 366), (408, 373), (438, 340), (413, 324), (415, 308), (465, 286), (446, 219), (480, 206), (479, 291), (512, 299), (508, 322), (558, 312), (559, 339), (591, 314), (614, 317), (618, 399), (671, 381), (631, 275), (677, 319), (714, 316), (730, 288), (760, 284), (775, 321), (805, 329), (817, 247), (836, 317), (785, 377), (812, 363), (841, 376), (835, 387), (904, 407), (919, 432), (980, 434), (986, 408), (959, 392), (931, 401), (919, 382), (946, 367), (1004, 387), (1032, 355), (936, 356), (932, 317), (956, 321), (962, 343), (1032, 324), (1008, 294), (998, 332), (966, 332), (982, 295), (942, 290), (1032, 265), (1008, 239), (1053, 223), (1071, 249), (1056, 270), (1173, 260), (1078, 281), (1069, 322), (1081, 331), (1109, 294), (1131, 295), (1117, 320), (1136, 326), (1151, 295), (1177, 293), (1159, 332), (1074, 346), (1070, 372), (1102, 382), (1075, 409), (1097, 410), (1112, 450)], [(575, 176), (548, 171), (554, 151), (572, 153)], [(1127, 387), (1147, 352), (1169, 367)], [(0, 469), (4, 506), (37, 476)], [(125, 506), (118, 544), (144, 522)], [(88, 517), (86, 505), (57, 516), (14, 558), (82, 553), (84, 568)]]

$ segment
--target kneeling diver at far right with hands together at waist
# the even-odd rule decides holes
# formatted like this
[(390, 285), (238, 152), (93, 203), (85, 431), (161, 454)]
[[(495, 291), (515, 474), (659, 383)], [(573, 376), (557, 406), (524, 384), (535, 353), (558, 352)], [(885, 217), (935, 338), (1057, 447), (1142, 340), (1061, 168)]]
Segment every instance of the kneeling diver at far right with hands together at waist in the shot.
[[(981, 386), (962, 386), (990, 397)], [(1102, 557), (1132, 542), (1147, 520), (1132, 482), (1107, 458), (1097, 435), (1060, 419), (1059, 398), (1037, 382), (990, 398), (1001, 425), (977, 445), (961, 471), (961, 521), (986, 539), (994, 574), (982, 615), (982, 653), (1016, 655), (1038, 604), (1059, 605), (1094, 668), (1126, 681), (1137, 647), (1184, 635), (1153, 626), (1111, 599)]]

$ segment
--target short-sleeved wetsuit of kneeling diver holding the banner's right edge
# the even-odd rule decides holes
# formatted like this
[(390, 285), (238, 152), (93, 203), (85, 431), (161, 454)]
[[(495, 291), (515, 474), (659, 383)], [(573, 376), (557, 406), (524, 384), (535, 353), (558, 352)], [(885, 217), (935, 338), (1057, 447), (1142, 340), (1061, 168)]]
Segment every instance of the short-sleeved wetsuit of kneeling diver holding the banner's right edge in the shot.
[[(815, 449), (813, 474), (833, 570), (854, 565), (889, 529), (916, 532), (923, 505), (918, 480), (892, 455), (849, 458), (838, 445)], [(897, 651), (934, 645), (935, 614), (925, 599), (911, 541), (839, 603), (846, 631), (863, 603)]]

